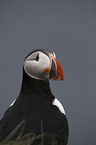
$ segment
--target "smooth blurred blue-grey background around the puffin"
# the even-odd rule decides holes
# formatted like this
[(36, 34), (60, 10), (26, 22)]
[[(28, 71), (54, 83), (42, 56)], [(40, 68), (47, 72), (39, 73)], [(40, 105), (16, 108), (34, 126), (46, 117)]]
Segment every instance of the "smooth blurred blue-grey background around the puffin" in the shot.
[(65, 81), (50, 81), (65, 107), (69, 145), (96, 145), (96, 1), (0, 0), (0, 118), (18, 96), (34, 48), (57, 54)]

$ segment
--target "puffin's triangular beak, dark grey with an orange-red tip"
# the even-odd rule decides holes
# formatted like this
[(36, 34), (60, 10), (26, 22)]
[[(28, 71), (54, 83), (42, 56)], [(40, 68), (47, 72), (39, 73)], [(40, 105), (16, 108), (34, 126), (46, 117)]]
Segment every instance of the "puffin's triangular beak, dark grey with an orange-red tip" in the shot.
[(52, 57), (52, 65), (49, 78), (51, 80), (64, 80), (62, 67), (54, 57)]

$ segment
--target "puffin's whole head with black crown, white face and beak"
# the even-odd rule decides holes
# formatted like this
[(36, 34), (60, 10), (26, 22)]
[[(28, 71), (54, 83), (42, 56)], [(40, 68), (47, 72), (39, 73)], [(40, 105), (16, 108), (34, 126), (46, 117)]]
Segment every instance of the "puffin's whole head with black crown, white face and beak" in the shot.
[(63, 80), (63, 70), (54, 52), (36, 49), (24, 60), (24, 70), (32, 78), (40, 80)]

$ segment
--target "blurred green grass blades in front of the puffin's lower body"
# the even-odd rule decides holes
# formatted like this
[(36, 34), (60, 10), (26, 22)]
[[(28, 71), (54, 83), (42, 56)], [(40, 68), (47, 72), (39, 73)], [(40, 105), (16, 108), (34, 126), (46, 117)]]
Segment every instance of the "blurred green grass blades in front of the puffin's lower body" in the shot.
[[(25, 121), (20, 122), (17, 127), (0, 143), (0, 145), (45, 145), (44, 134), (36, 136), (34, 133), (27, 133), (23, 135)], [(54, 137), (53, 137), (54, 138)], [(39, 140), (39, 143), (37, 143)], [(50, 145), (58, 145), (54, 138)]]

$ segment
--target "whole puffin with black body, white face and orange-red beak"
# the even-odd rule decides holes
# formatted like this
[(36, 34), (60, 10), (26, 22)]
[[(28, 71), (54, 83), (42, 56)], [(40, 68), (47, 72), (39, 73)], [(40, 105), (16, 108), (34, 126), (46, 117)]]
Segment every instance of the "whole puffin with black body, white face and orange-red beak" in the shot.
[[(63, 69), (56, 54), (35, 49), (24, 59), (21, 90), (0, 120), (0, 142), (25, 120), (24, 134), (54, 134), (58, 145), (67, 145), (69, 128), (63, 105), (52, 94), (49, 80), (64, 80)], [(51, 137), (44, 144), (51, 145)], [(51, 140), (51, 141), (50, 141)]]

